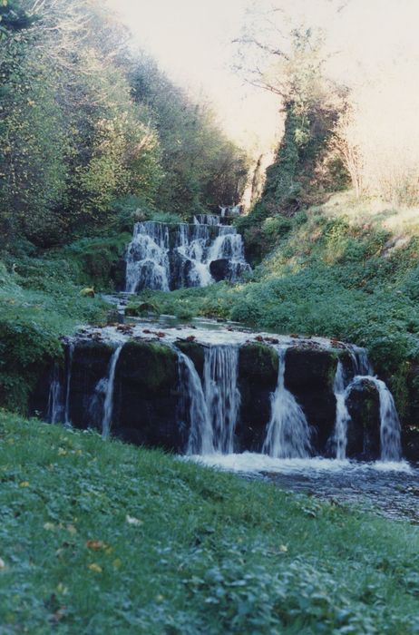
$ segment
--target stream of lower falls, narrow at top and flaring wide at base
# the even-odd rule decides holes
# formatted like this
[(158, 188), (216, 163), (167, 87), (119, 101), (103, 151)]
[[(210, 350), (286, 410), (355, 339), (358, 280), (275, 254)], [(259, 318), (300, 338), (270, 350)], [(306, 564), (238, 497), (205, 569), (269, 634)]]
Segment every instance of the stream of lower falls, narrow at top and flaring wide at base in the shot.
[(285, 387), (287, 347), (278, 347), (278, 385), (271, 396), (271, 415), (263, 454), (275, 458), (305, 458), (311, 454), (306, 415)]

